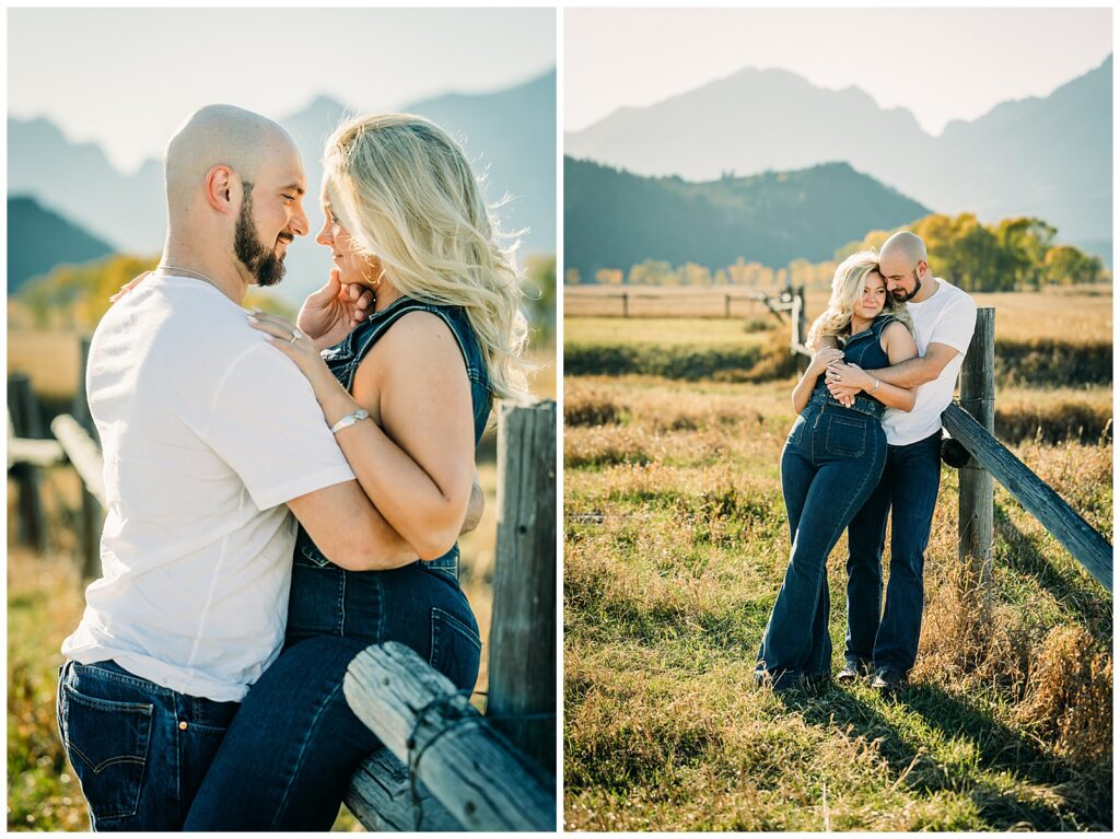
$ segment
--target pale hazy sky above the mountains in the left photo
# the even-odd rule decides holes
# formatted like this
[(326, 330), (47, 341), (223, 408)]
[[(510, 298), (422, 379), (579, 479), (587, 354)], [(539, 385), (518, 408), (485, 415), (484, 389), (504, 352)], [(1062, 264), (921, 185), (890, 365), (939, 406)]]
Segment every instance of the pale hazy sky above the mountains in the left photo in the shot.
[(11, 9), (8, 24), (9, 115), (47, 116), (125, 171), (209, 102), (385, 110), (556, 64), (552, 9)]

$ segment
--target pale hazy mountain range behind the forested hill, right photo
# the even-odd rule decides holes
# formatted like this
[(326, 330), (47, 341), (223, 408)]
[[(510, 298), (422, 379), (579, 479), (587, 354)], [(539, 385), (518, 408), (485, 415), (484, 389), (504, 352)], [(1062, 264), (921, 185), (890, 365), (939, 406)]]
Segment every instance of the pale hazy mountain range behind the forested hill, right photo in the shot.
[(1005, 102), (937, 138), (856, 87), (744, 69), (566, 134), (564, 153), (690, 180), (846, 160), (939, 213), (1038, 216), (1111, 262), (1111, 56), (1049, 96)]

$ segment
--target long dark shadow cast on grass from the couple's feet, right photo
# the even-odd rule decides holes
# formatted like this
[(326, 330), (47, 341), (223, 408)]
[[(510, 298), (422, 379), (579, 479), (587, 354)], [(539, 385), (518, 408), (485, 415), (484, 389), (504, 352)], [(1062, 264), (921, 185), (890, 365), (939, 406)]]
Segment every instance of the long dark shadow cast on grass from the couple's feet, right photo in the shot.
[[(834, 684), (815, 692), (794, 690), (782, 694), (791, 711), (805, 723), (838, 731), (849, 738), (877, 742), (879, 754), (896, 773), (896, 782), (914, 792), (940, 791), (968, 796), (993, 830), (1110, 829), (1110, 802), (1096, 805), (1067, 801), (1055, 787), (1074, 782), (1070, 767), (1045, 755), (1029, 739), (991, 715), (946, 693), (936, 686), (916, 684), (894, 697), (877, 699), (866, 690), (853, 691)], [(902, 706), (913, 715), (913, 727), (885, 714), (886, 702)], [(976, 749), (977, 764), (960, 766), (939, 759), (923, 742), (923, 727), (937, 731), (945, 742), (964, 738)], [(1054, 791), (1053, 803), (1006, 789), (983, 774), (1006, 772), (1014, 780)], [(1080, 798), (1080, 796), (1079, 796)], [(1107, 827), (1105, 827), (1107, 826)]]

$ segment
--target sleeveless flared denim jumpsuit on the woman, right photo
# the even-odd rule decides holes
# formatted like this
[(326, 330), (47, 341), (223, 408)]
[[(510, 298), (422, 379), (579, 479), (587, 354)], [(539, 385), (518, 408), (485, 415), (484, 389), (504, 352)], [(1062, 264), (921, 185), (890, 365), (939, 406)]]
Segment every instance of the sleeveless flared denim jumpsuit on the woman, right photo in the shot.
[[(883, 330), (894, 320), (880, 315), (852, 335), (844, 361), (867, 370), (890, 366)], [(885, 407), (865, 393), (844, 408), (822, 375), (782, 449), (782, 494), (790, 518), (790, 565), (758, 650), (756, 679), (776, 689), (801, 677), (829, 673), (829, 586), (825, 561), (843, 529), (883, 474), (887, 440), (879, 419)]]

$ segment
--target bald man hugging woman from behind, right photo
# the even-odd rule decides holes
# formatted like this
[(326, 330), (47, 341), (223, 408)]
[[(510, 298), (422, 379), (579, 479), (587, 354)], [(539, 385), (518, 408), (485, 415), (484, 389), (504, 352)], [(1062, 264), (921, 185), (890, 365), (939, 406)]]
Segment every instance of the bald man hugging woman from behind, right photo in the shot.
[[(909, 231), (888, 239), (879, 253), (887, 290), (914, 319), (920, 355), (869, 371), (876, 379), (917, 388), (913, 410), (887, 409), (887, 463), (871, 497), (848, 525), (848, 634), (837, 681), (874, 673), (871, 687), (906, 683), (917, 658), (925, 605), (925, 549), (941, 482), (941, 414), (953, 399), (956, 374), (976, 328), (976, 302), (930, 272), (925, 243)], [(838, 399), (853, 394), (839, 371), (825, 373)], [(890, 515), (890, 580), (883, 606), (883, 549)], [(881, 621), (879, 617), (883, 608)]]

